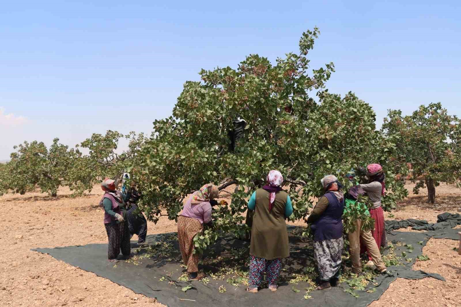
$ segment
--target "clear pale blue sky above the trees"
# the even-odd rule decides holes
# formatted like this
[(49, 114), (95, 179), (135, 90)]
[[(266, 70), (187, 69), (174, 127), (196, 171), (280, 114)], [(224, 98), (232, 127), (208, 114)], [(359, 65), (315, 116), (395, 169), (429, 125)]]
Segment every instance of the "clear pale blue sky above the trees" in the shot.
[[(127, 2), (127, 1), (124, 1)], [(8, 1), (0, 10), (0, 160), (24, 140), (74, 146), (93, 132), (150, 133), (201, 68), (271, 61), (321, 32), (327, 88), (410, 113), (461, 115), (458, 1)], [(123, 144), (122, 144), (123, 147)]]

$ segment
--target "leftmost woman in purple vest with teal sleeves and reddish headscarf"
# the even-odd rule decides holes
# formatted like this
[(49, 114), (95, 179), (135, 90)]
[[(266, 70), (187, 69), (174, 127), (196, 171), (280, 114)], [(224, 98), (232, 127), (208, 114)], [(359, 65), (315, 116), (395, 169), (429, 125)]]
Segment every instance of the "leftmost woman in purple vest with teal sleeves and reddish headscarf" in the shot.
[(104, 207), (104, 226), (106, 227), (109, 247), (107, 250), (108, 261), (116, 262), (120, 250), (124, 256), (130, 256), (130, 230), (126, 219), (125, 201), (130, 199), (131, 193), (126, 195), (116, 190), (115, 181), (106, 178), (101, 183), (104, 195), (100, 206)]

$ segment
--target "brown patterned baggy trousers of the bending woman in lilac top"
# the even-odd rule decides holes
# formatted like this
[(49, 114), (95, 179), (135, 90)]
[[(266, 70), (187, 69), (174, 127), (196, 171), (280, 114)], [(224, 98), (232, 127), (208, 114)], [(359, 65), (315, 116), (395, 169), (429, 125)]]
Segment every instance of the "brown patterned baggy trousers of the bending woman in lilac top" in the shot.
[(177, 238), (179, 249), (183, 256), (183, 263), (187, 266), (187, 272), (198, 272), (200, 254), (194, 254), (194, 237), (202, 231), (202, 224), (195, 218), (187, 218), (180, 215), (177, 218)]

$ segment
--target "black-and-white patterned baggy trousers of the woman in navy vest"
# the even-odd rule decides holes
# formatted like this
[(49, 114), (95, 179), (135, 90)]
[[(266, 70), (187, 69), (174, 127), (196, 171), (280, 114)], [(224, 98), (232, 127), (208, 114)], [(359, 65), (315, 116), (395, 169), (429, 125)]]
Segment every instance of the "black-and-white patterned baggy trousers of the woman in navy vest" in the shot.
[(338, 278), (343, 255), (343, 237), (339, 239), (314, 241), (314, 256), (319, 268), (319, 279), (328, 281)]

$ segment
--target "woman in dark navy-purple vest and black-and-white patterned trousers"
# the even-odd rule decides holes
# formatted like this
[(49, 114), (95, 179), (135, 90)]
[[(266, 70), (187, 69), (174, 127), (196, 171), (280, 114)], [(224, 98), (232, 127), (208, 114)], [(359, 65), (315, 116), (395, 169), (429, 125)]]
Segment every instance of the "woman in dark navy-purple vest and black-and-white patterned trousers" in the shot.
[(343, 254), (344, 195), (337, 177), (327, 175), (320, 181), (325, 194), (320, 197), (312, 213), (305, 218), (314, 233), (314, 254), (319, 268), (320, 285), (328, 289), (336, 286)]

